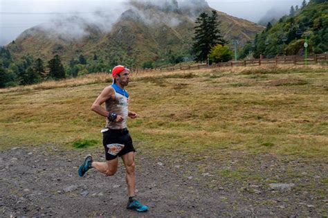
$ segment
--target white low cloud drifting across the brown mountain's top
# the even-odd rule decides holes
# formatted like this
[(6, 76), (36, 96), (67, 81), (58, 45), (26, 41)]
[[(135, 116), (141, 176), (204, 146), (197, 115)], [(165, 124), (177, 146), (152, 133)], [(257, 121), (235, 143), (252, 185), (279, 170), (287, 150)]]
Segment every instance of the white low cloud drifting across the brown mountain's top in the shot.
[[(198, 15), (206, 7), (208, 3), (204, 0), (117, 2), (115, 6), (102, 10), (99, 8), (95, 12), (53, 15), (49, 22), (40, 24), (37, 28), (44, 30), (48, 37), (60, 36), (70, 41), (85, 37), (92, 31), (108, 33), (120, 18), (136, 19), (148, 25), (165, 23), (169, 26), (177, 26), (182, 21), (174, 17), (174, 13), (187, 12), (193, 16)], [(30, 31), (25, 33), (28, 32)]]

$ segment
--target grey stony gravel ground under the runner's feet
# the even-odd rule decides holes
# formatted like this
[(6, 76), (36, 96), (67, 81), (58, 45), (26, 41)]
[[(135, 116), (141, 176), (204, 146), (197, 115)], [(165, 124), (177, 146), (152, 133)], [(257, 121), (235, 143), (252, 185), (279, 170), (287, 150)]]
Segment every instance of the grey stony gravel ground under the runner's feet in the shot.
[[(55, 145), (0, 154), (0, 217), (327, 217), (328, 165), (269, 154), (136, 156), (138, 199), (125, 209), (125, 169), (78, 176), (88, 151)], [(93, 152), (104, 160), (102, 151)], [(185, 161), (188, 159), (188, 161)]]

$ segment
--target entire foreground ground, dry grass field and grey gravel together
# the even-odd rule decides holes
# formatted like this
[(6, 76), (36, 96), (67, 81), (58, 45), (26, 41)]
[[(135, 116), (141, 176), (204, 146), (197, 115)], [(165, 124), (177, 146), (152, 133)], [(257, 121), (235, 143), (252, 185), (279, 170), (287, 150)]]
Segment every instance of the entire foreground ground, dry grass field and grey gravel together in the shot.
[(142, 215), (125, 210), (122, 162), (115, 176), (77, 174), (86, 154), (104, 161), (104, 118), (90, 108), (108, 78), (0, 89), (3, 217), (327, 215), (327, 67), (132, 75)]

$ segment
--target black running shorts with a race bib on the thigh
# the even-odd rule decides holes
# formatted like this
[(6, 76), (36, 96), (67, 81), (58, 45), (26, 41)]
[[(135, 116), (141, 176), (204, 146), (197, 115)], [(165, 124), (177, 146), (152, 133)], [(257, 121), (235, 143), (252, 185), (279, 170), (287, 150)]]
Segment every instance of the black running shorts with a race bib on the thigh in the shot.
[(109, 129), (109, 131), (105, 131), (102, 134), (102, 144), (104, 145), (107, 161), (111, 161), (129, 152), (136, 152), (127, 129)]

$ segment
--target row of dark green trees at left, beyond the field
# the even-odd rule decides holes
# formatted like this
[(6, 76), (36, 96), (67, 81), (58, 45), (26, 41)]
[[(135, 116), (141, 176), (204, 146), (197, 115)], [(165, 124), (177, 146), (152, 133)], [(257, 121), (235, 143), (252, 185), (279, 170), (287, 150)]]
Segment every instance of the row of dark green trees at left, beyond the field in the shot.
[(35, 59), (32, 55), (14, 60), (6, 47), (0, 47), (0, 88), (74, 78), (87, 73), (110, 72), (112, 68), (107, 62), (98, 59), (96, 54), (92, 60), (80, 55), (64, 64), (59, 55), (51, 60)]

